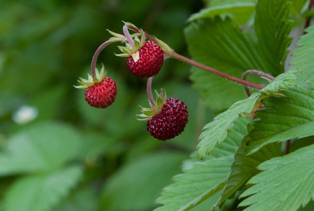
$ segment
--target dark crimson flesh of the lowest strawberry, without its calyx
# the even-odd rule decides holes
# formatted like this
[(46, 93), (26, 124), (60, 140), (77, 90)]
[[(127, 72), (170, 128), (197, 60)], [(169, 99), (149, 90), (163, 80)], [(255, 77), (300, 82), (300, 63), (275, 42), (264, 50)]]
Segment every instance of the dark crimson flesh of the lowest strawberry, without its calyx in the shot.
[(184, 131), (187, 124), (187, 106), (179, 99), (167, 98), (160, 114), (147, 122), (147, 130), (158, 140), (168, 140)]

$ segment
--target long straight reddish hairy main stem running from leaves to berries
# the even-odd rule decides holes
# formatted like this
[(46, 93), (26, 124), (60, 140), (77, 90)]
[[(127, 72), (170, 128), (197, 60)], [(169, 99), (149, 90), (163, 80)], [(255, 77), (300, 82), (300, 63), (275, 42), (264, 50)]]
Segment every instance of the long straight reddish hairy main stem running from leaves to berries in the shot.
[[(131, 25), (125, 25), (124, 27), (127, 27), (127, 28), (129, 28), (129, 29), (131, 29), (131, 30), (133, 30), (133, 31), (135, 31), (135, 32), (140, 32), (140, 30), (139, 30), (138, 28), (136, 28), (136, 27), (134, 27), (134, 26), (131, 26)], [(124, 29), (124, 27), (123, 27), (123, 29)], [(152, 41), (154, 41), (154, 42), (158, 42), (154, 37), (150, 36), (150, 35), (147, 34), (147, 33), (145, 33), (145, 36), (146, 36), (148, 39), (150, 39), (150, 40), (152, 40)], [(196, 67), (198, 67), (198, 68), (200, 68), (200, 69), (202, 69), (202, 70), (211, 72), (211, 73), (213, 73), (213, 74), (215, 74), (215, 75), (217, 75), (217, 76), (226, 78), (226, 79), (228, 79), (228, 80), (230, 80), (230, 81), (234, 81), (234, 82), (236, 82), (236, 83), (241, 83), (241, 84), (243, 84), (243, 85), (246, 85), (246, 86), (249, 86), (249, 87), (252, 87), (252, 88), (256, 88), (256, 89), (262, 89), (262, 88), (265, 87), (265, 86), (263, 86), (263, 85), (259, 85), (259, 84), (256, 84), (256, 83), (251, 83), (251, 82), (248, 82), (248, 81), (246, 81), (246, 80), (242, 80), (242, 79), (240, 79), (240, 78), (237, 78), (237, 77), (234, 77), (234, 76), (230, 76), (230, 75), (228, 75), (228, 74), (226, 74), (226, 73), (224, 73), (224, 72), (220, 72), (220, 71), (215, 70), (215, 69), (213, 69), (213, 68), (210, 68), (210, 67), (208, 67), (208, 66), (202, 65), (202, 64), (200, 64), (200, 63), (198, 63), (198, 62), (196, 62), (196, 61), (193, 61), (193, 60), (188, 59), (188, 58), (186, 58), (186, 57), (184, 57), (184, 56), (181, 56), (180, 54), (177, 54), (176, 52), (173, 52), (173, 54), (171, 55), (171, 57), (174, 58), (174, 59), (183, 61), (183, 62), (185, 62), (185, 63), (187, 63), (187, 64), (190, 64), (190, 65), (192, 65), (192, 66), (196, 66)]]

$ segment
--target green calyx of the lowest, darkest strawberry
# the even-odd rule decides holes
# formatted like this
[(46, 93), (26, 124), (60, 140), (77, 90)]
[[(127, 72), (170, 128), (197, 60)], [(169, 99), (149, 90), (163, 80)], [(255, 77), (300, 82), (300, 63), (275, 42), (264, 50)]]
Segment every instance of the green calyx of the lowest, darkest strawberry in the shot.
[(165, 94), (163, 94), (163, 89), (160, 89), (160, 94), (158, 94), (156, 90), (155, 92), (157, 95), (155, 104), (157, 106), (154, 106), (151, 102), (149, 102), (150, 108), (143, 108), (142, 106), (140, 106), (142, 108), (141, 110), (142, 114), (136, 115), (137, 120), (149, 121), (151, 120), (152, 117), (161, 113), (162, 107), (167, 103), (166, 91), (165, 91)]

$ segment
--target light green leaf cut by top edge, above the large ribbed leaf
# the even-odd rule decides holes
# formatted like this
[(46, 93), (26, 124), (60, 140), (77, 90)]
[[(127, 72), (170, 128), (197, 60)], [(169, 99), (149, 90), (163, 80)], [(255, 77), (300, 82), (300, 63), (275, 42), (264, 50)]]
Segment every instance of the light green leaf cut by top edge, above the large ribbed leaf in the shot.
[(244, 24), (253, 14), (255, 9), (255, 0), (233, 1), (222, 5), (212, 6), (201, 9), (198, 13), (192, 14), (187, 21), (198, 20), (202, 18), (214, 17), (220, 15), (222, 18), (229, 16), (234, 21)]

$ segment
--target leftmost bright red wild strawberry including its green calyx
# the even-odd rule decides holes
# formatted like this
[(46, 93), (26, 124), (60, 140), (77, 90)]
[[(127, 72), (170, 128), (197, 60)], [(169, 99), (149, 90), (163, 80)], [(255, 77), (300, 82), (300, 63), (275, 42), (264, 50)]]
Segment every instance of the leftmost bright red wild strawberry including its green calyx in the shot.
[(95, 69), (96, 77), (92, 78), (88, 74), (88, 80), (80, 78), (78, 83), (81, 86), (76, 88), (86, 88), (85, 100), (90, 106), (95, 108), (106, 108), (110, 106), (116, 99), (117, 89), (116, 83), (109, 77), (106, 77), (105, 67), (102, 66), (101, 71)]

